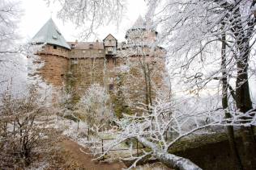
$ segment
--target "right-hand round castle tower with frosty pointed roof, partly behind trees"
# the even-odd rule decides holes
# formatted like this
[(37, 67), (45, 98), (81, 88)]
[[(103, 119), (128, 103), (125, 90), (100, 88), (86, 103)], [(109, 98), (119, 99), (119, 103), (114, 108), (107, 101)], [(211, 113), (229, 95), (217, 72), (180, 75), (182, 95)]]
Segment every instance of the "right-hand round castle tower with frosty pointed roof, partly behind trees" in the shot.
[(118, 55), (124, 60), (122, 63), (129, 72), (117, 75), (122, 86), (121, 103), (128, 106), (131, 113), (142, 111), (137, 109), (138, 103), (144, 103), (146, 107), (154, 105), (154, 99), (159, 96), (160, 89), (165, 89), (165, 50), (158, 46), (157, 34), (150, 22), (139, 16), (134, 25), (126, 31), (126, 43), (119, 44)]

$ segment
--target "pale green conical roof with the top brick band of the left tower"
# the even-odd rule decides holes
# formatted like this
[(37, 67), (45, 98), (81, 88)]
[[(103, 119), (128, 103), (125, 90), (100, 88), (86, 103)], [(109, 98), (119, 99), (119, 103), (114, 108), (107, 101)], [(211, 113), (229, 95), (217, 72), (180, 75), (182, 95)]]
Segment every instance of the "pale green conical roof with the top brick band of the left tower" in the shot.
[(69, 44), (58, 30), (58, 27), (49, 19), (41, 30), (31, 40), (32, 44), (43, 44), (39, 54), (68, 57)]

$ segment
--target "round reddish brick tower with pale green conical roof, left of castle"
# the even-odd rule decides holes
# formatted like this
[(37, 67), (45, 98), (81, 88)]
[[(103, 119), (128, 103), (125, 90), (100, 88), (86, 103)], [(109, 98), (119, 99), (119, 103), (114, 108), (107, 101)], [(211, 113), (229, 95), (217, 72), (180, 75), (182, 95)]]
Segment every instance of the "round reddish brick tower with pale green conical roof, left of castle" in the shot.
[(36, 52), (44, 62), (39, 71), (41, 77), (51, 85), (63, 85), (69, 67), (70, 46), (66, 43), (53, 19), (49, 19), (41, 27), (40, 31), (32, 38), (31, 43), (42, 45), (41, 51)]

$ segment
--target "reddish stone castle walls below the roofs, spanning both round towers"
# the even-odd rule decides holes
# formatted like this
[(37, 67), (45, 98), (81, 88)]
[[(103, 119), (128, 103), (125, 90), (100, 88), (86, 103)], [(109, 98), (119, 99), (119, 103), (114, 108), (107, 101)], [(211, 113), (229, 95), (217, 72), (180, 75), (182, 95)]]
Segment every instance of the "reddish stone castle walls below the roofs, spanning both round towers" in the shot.
[(60, 56), (41, 55), (41, 60), (45, 60), (41, 76), (54, 86), (66, 85), (71, 89), (74, 103), (90, 85), (100, 84), (111, 94), (115, 112), (124, 112), (127, 108), (129, 112), (137, 112), (138, 103), (153, 102), (164, 84), (164, 58), (132, 56), (67, 60)]

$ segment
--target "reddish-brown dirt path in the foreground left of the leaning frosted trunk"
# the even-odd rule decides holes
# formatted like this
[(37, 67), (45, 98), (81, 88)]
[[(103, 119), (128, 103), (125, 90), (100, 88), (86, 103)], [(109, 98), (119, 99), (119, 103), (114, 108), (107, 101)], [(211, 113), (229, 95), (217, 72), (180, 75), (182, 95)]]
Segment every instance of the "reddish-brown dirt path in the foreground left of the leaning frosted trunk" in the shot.
[(100, 163), (92, 161), (92, 155), (88, 155), (80, 151), (80, 148), (82, 148), (83, 151), (86, 152), (87, 149), (69, 139), (63, 140), (61, 145), (64, 148), (64, 150), (69, 154), (69, 159), (75, 160), (75, 162), (79, 165), (79, 167), (81, 167), (81, 169), (119, 170), (125, 168), (125, 165), (122, 163)]

